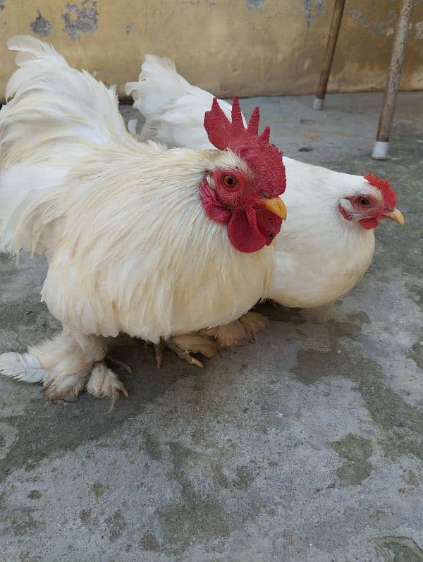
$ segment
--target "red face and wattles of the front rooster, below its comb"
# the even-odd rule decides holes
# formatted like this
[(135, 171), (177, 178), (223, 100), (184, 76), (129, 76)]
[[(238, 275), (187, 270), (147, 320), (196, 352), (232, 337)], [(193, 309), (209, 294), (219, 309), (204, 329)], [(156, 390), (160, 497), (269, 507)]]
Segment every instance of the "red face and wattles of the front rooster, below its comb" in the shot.
[[(263, 207), (266, 192), (238, 168), (209, 174), (216, 190), (204, 178), (200, 197), (210, 219), (228, 225), (231, 243), (240, 252), (256, 252), (271, 244), (281, 230), (282, 219)], [(262, 182), (259, 182), (262, 183)]]

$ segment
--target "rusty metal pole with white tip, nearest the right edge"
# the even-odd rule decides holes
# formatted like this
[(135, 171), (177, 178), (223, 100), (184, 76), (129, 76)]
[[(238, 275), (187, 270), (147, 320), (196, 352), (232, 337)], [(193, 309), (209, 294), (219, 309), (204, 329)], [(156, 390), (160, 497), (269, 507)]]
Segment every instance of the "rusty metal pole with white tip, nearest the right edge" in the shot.
[(389, 133), (395, 111), (398, 87), (400, 86), (401, 71), (403, 69), (405, 44), (410, 25), (413, 0), (403, 0), (400, 8), (400, 17), (393, 39), (391, 64), (389, 65), (388, 79), (386, 80), (384, 101), (382, 102), (379, 127), (377, 128), (376, 141), (373, 145), (372, 158), (386, 160), (389, 149)]

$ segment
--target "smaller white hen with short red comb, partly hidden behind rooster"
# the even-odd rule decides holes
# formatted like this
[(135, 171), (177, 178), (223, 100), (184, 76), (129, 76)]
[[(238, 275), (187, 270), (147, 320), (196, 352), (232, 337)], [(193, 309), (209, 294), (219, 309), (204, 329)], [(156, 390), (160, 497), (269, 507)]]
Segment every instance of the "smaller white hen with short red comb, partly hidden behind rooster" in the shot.
[[(138, 82), (128, 83), (125, 92), (145, 116), (141, 138), (168, 147), (210, 147), (202, 116), (213, 96), (178, 75), (170, 59), (147, 55)], [(223, 100), (219, 105), (229, 118), (231, 106)], [(135, 133), (134, 121), (129, 128)], [(263, 296), (288, 307), (321, 307), (347, 294), (367, 271), (379, 221), (403, 224), (403, 215), (388, 181), (287, 157), (284, 163), (289, 216), (276, 240), (274, 279)], [(223, 347), (245, 338), (240, 322), (219, 329), (226, 337)], [(220, 337), (216, 329), (207, 335)]]

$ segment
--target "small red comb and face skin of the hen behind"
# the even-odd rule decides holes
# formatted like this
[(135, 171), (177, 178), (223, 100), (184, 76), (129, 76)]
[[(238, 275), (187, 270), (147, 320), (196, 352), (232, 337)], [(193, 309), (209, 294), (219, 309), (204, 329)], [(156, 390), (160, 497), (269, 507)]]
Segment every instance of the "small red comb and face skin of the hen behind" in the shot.
[(387, 180), (380, 180), (368, 173), (364, 176), (371, 185), (379, 190), (381, 197), (372, 193), (362, 193), (353, 197), (345, 197), (353, 206), (353, 212), (348, 212), (341, 205), (339, 211), (344, 219), (360, 222), (363, 228), (371, 230), (379, 225), (381, 219), (386, 218), (396, 208), (396, 193)]

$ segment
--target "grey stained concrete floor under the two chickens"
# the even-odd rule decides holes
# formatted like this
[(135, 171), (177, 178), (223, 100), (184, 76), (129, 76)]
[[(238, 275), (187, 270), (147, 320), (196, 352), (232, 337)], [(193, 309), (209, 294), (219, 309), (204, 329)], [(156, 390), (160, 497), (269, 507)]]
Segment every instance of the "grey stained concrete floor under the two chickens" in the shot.
[[(390, 178), (405, 226), (377, 229), (347, 298), (264, 305), (257, 344), (202, 370), (116, 348), (135, 374), (111, 413), (0, 379), (1, 561), (423, 560), (423, 92), (400, 94), (379, 163), (381, 94), (258, 101), (288, 156)], [(25, 350), (59, 327), (46, 267), (0, 264), (0, 352)]]

